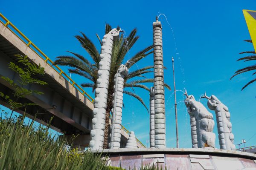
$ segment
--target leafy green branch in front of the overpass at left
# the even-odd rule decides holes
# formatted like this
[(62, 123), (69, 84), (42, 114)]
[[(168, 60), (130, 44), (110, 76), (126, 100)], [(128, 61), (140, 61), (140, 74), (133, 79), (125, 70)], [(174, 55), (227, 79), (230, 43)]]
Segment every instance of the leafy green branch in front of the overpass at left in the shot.
[(12, 69), (13, 72), (17, 73), (19, 75), (19, 78), (17, 82), (14, 82), (9, 77), (2, 76), (1, 78), (4, 79), (13, 89), (13, 98), (10, 98), (9, 95), (5, 95), (3, 92), (0, 92), (0, 96), (6, 100), (6, 102), (10, 105), (12, 109), (11, 117), (13, 114), (13, 111), (20, 109), (22, 107), (32, 106), (35, 105), (34, 103), (20, 103), (20, 98), (25, 98), (28, 95), (42, 95), (43, 92), (28, 89), (27, 87), (31, 84), (40, 84), (45, 85), (47, 84), (44, 81), (38, 80), (34, 78), (35, 75), (44, 75), (44, 67), (41, 67), (40, 65), (37, 66), (35, 63), (32, 63), (29, 61), (28, 57), (26, 55), (15, 55), (17, 63), (22, 65), (20, 67), (19, 65), (10, 62), (8, 63), (8, 66), (10, 69)]

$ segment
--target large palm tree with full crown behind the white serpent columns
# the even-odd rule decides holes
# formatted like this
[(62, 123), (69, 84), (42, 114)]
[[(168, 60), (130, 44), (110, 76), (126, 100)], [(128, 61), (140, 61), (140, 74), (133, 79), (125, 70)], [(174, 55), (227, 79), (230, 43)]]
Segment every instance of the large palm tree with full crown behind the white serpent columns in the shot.
[[(105, 34), (111, 31), (111, 26), (109, 24), (106, 24), (105, 26)], [(108, 86), (108, 101), (107, 101), (107, 109), (106, 109), (106, 126), (104, 130), (104, 146), (103, 148), (108, 148), (108, 132), (109, 132), (109, 117), (110, 112), (112, 109), (112, 94), (114, 92), (113, 89), (113, 80), (114, 75), (116, 74), (119, 66), (124, 63), (125, 55), (128, 53), (128, 51), (131, 49), (132, 46), (136, 43), (136, 41), (139, 39), (139, 37), (136, 35), (137, 29), (133, 29), (131, 33), (128, 35), (128, 37), (124, 37), (123, 34), (113, 42), (113, 49), (112, 49), (112, 58), (111, 58), (111, 70), (110, 70), (110, 78), (109, 78), (109, 86)], [(102, 45), (101, 39), (99, 38), (99, 35), (96, 34), (99, 40), (99, 46)], [(70, 52), (74, 56), (59, 56), (57, 57), (55, 64), (61, 65), (61, 66), (70, 66), (69, 72), (81, 75), (82, 77), (89, 80), (89, 83), (82, 83), (81, 86), (83, 87), (91, 87), (93, 92), (96, 89), (96, 80), (97, 80), (97, 72), (99, 70), (99, 55), (100, 52), (97, 50), (96, 46), (92, 43), (92, 41), (81, 32), (81, 35), (76, 35), (76, 39), (79, 41), (81, 46), (86, 50), (86, 52), (90, 55), (90, 58), (92, 58), (93, 62), (91, 63), (87, 58), (83, 57), (82, 55), (79, 55), (74, 52)], [(146, 47), (145, 49), (141, 50), (140, 52), (137, 52), (136, 55), (131, 57), (127, 62), (126, 66), (128, 69), (130, 69), (134, 64), (136, 64), (141, 59), (145, 58), (149, 54), (151, 54), (153, 51), (153, 45), (150, 45)], [(148, 90), (150, 92), (150, 89), (145, 86), (143, 83), (153, 83), (153, 78), (146, 78), (144, 76), (145, 73), (153, 72), (154, 66), (145, 66), (140, 69), (136, 69), (134, 71), (131, 71), (128, 73), (128, 75), (125, 77), (124, 82), (124, 88), (125, 89), (132, 89), (132, 90), (125, 90), (124, 93), (127, 95), (130, 95), (137, 100), (140, 101), (141, 104), (148, 110), (145, 103), (143, 102), (142, 98), (140, 98), (139, 95), (134, 93), (134, 87), (142, 88), (145, 90)], [(140, 77), (141, 79), (134, 79)], [(170, 87), (165, 84), (165, 86), (170, 89)]]

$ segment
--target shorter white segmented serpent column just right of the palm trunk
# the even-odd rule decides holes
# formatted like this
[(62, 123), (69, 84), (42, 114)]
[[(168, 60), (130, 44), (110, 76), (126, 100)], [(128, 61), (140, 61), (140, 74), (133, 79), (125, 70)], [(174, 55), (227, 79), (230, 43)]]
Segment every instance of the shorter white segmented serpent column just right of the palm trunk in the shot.
[(128, 68), (121, 65), (116, 72), (114, 79), (114, 93), (113, 93), (113, 108), (112, 112), (112, 126), (111, 126), (111, 143), (110, 148), (120, 148), (121, 141), (121, 124), (122, 124), (122, 105), (123, 105), (123, 90), (125, 75), (128, 73)]

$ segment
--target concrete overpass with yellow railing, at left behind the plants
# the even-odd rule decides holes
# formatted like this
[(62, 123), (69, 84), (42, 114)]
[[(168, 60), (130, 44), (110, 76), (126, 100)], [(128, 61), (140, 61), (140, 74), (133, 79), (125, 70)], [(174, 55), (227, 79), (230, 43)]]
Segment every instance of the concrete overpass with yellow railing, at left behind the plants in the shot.
[[(47, 55), (0, 14), (0, 75), (17, 81), (18, 75), (7, 66), (10, 61), (15, 63), (15, 54), (27, 55), (32, 62), (44, 67), (46, 74), (37, 78), (48, 83), (44, 86), (29, 86), (29, 89), (44, 92), (44, 95), (32, 95), (21, 101), (37, 104), (27, 108), (26, 116), (34, 118), (37, 113), (35, 120), (46, 125), (54, 115), (51, 121), (52, 129), (65, 133), (67, 138), (72, 134), (79, 134), (75, 145), (87, 147), (90, 140), (93, 98), (58, 66), (53, 66)], [(0, 89), (11, 96), (12, 87), (1, 78)], [(9, 107), (5, 101), (0, 101), (0, 104)], [(24, 110), (17, 112), (23, 114)], [(121, 147), (124, 147), (130, 132), (124, 127), (121, 132)], [(138, 139), (137, 146), (145, 147)]]

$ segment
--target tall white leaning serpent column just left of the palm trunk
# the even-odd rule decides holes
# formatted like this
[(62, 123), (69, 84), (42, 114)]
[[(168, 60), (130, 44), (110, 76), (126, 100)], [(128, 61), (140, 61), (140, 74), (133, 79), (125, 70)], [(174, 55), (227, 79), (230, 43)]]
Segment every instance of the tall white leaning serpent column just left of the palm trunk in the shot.
[(102, 39), (98, 79), (96, 82), (92, 130), (90, 131), (89, 147), (93, 150), (103, 148), (106, 108), (108, 100), (108, 84), (111, 66), (111, 55), (114, 38), (119, 36), (120, 30), (112, 29)]

